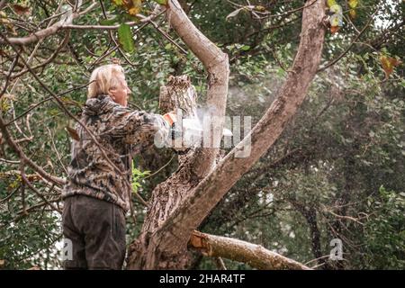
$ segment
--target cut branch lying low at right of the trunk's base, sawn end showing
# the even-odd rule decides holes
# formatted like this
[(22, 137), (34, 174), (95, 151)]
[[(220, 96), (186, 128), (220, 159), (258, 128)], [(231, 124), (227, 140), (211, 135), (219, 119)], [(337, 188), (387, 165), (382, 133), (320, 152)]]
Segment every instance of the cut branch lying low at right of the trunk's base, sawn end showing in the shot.
[(193, 231), (189, 247), (199, 250), (204, 256), (224, 257), (247, 263), (261, 270), (311, 270), (310, 267), (269, 251), (263, 246), (235, 238), (205, 234), (199, 231)]

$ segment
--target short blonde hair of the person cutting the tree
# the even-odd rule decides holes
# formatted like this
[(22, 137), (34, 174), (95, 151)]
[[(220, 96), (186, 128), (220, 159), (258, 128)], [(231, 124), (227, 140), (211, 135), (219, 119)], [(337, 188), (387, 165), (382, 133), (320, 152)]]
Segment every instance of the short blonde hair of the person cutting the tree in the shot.
[(120, 83), (119, 76), (124, 75), (123, 68), (117, 64), (108, 64), (94, 69), (90, 76), (87, 98), (94, 98), (100, 94), (108, 94), (110, 88)]

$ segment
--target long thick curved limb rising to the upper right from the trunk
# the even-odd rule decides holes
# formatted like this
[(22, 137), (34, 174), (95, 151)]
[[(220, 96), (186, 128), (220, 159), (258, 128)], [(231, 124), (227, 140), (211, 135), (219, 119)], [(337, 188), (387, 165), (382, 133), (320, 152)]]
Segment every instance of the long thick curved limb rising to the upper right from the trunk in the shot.
[[(229, 188), (279, 138), (287, 122), (302, 104), (319, 67), (325, 36), (322, 25), (324, 15), (323, 0), (304, 9), (300, 46), (292, 73), (287, 77), (279, 96), (247, 137), (220, 161), (157, 231), (157, 245), (161, 245), (161, 248), (173, 251), (182, 249), (193, 229), (200, 225)], [(249, 147), (251, 153), (248, 157), (235, 157), (239, 150)], [(173, 235), (176, 237), (173, 238)]]

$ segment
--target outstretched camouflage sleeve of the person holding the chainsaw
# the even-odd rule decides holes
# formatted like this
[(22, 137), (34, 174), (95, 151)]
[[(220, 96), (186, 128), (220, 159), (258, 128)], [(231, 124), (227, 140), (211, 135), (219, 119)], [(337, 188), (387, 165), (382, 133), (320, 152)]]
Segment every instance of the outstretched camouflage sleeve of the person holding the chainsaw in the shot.
[(168, 139), (170, 127), (159, 114), (119, 109), (109, 121), (109, 134), (121, 137), (127, 144), (152, 144), (162, 147)]

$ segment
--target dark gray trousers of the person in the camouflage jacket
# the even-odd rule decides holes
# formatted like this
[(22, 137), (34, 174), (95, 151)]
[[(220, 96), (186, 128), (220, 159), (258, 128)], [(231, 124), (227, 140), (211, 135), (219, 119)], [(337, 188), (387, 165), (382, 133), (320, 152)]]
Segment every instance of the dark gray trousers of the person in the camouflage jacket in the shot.
[[(125, 214), (112, 202), (90, 196), (65, 199), (63, 235), (71, 244), (65, 269), (121, 269), (125, 258)], [(68, 247), (68, 246), (67, 246)]]

